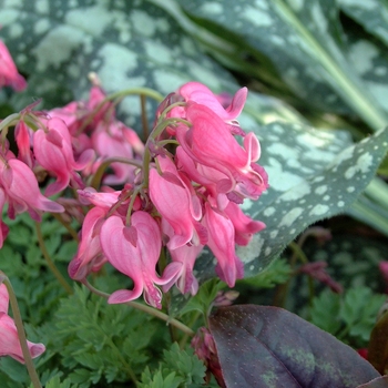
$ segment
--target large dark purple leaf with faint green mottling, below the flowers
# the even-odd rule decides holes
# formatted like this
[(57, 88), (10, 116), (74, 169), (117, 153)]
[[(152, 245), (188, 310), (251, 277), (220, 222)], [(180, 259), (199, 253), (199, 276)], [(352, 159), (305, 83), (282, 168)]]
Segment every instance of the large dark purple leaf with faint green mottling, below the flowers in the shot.
[(210, 329), (226, 387), (355, 388), (380, 376), (349, 346), (277, 307), (219, 308)]

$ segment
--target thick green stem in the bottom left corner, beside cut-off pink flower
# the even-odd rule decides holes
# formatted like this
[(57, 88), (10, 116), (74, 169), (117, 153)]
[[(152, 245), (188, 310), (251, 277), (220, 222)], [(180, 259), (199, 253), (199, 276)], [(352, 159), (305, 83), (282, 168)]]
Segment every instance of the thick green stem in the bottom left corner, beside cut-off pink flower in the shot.
[(10, 300), (10, 305), (11, 305), (12, 314), (13, 314), (13, 320), (14, 320), (14, 325), (17, 326), (17, 330), (18, 330), (20, 347), (21, 347), (21, 350), (23, 354), (25, 367), (27, 367), (27, 370), (29, 372), (31, 382), (32, 382), (34, 388), (42, 388), (42, 385), (40, 384), (40, 380), (39, 380), (39, 377), (37, 374), (37, 369), (35, 369), (33, 361), (32, 361), (32, 357), (31, 357), (29, 347), (27, 345), (27, 338), (25, 338), (23, 321), (21, 319), (21, 314), (20, 314), (20, 309), (19, 309), (19, 305), (18, 305), (18, 299), (14, 295), (11, 282), (2, 272), (0, 272), (0, 284), (1, 283), (3, 283), (6, 285), (7, 290), (8, 290), (9, 300)]

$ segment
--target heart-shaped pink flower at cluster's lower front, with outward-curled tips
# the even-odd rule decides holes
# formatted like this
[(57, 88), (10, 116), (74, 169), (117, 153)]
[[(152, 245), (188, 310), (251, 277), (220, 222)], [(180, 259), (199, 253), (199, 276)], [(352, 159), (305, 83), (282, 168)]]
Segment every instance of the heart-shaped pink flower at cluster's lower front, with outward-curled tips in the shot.
[(131, 226), (125, 226), (120, 216), (112, 215), (102, 225), (100, 241), (108, 261), (118, 270), (132, 278), (132, 290), (119, 289), (108, 299), (110, 304), (139, 298), (162, 308), (162, 292), (155, 285), (164, 285), (170, 278), (160, 277), (155, 267), (162, 248), (162, 236), (156, 221), (146, 212), (131, 216)]

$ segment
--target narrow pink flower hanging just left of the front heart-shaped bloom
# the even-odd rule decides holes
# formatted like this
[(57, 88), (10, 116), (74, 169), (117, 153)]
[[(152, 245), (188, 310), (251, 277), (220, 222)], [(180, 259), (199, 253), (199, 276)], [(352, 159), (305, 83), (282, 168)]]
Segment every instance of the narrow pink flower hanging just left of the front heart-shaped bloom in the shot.
[(72, 279), (82, 280), (91, 272), (100, 270), (106, 263), (100, 244), (100, 231), (106, 213), (106, 208), (98, 206), (88, 212), (82, 224), (81, 243), (68, 268)]

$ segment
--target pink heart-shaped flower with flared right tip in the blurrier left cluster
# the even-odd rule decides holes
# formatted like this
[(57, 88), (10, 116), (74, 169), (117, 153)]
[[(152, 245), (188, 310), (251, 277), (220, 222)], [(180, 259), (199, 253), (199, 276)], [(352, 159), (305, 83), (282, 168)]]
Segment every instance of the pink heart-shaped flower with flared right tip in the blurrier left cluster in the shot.
[(57, 176), (57, 181), (47, 187), (47, 195), (61, 192), (70, 182), (82, 187), (82, 180), (75, 171), (83, 170), (94, 157), (94, 152), (86, 150), (78, 162), (74, 161), (69, 129), (64, 121), (58, 118), (48, 120), (47, 127), (34, 133), (33, 152), (38, 163)]

